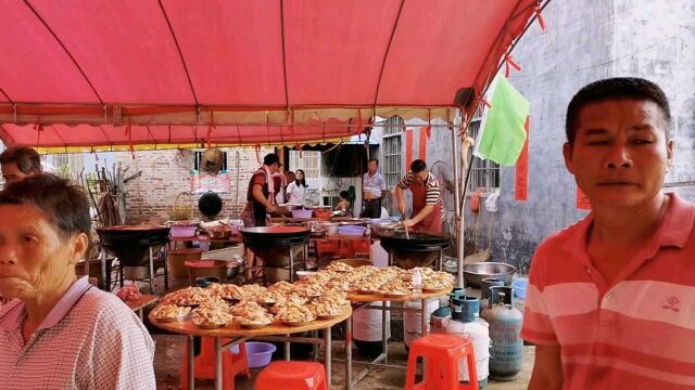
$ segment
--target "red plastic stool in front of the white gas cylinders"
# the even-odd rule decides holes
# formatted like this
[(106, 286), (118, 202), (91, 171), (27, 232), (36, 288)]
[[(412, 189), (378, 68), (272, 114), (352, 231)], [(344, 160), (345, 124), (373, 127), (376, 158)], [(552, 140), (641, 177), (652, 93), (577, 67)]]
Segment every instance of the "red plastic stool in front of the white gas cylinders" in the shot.
[[(417, 358), (422, 358), (422, 381), (415, 384)], [(467, 360), (469, 384), (459, 384), (458, 361)], [(470, 340), (452, 335), (432, 334), (410, 344), (406, 390), (478, 390), (476, 355)]]

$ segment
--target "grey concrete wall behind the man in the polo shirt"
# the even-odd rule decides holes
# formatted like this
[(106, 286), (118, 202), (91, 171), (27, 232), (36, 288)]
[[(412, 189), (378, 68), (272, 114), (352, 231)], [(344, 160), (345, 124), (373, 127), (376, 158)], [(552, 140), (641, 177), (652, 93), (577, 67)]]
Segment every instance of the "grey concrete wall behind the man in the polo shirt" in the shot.
[[(648, 78), (671, 102), (677, 143), (668, 182), (695, 180), (695, 2), (554, 1), (548, 31), (532, 26), (514, 52), (522, 72), (510, 82), (531, 103), (528, 202), (514, 200), (515, 169), (503, 168), (493, 259), (528, 271), (538, 244), (586, 214), (576, 208), (576, 184), (561, 155), (572, 95), (597, 79)], [(693, 199), (692, 187), (677, 188)], [(484, 216), (488, 217), (488, 216)]]

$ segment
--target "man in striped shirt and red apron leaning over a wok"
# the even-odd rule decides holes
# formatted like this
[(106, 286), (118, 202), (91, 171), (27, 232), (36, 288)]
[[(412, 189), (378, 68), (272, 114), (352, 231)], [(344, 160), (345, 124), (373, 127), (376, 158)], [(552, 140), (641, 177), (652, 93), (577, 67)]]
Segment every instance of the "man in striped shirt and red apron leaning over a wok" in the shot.
[(406, 174), (395, 187), (399, 210), (405, 218), (405, 198), (403, 191), (409, 188), (413, 193), (413, 217), (405, 219), (406, 227), (414, 226), (416, 231), (441, 233), (444, 212), (440, 199), (439, 181), (421, 159), (410, 164), (410, 172)]

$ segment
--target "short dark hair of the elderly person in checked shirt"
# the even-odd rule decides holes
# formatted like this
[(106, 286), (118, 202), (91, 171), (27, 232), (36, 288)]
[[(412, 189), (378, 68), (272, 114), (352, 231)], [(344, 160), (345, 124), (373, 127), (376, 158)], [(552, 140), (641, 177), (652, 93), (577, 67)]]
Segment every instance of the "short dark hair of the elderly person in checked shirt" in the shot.
[(1, 205), (28, 205), (41, 210), (55, 226), (61, 239), (74, 234), (89, 236), (91, 219), (85, 191), (49, 173), (27, 177), (0, 192)]

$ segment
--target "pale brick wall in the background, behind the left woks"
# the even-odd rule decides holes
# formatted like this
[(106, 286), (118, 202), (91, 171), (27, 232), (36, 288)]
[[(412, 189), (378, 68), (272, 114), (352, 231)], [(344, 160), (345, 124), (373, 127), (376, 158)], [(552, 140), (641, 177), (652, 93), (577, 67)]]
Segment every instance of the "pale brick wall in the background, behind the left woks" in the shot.
[[(230, 172), (230, 190), (228, 193), (219, 194), (223, 199), (223, 210), (217, 218), (232, 217), (241, 211), (245, 204), (247, 188), (251, 173), (255, 171), (260, 164), (256, 160), (254, 148), (222, 148), (227, 152), (227, 167)], [(273, 148), (262, 147), (261, 158)], [(177, 158), (178, 151), (148, 151), (136, 152), (135, 160), (129, 153), (119, 153), (117, 160), (123, 162), (123, 167), (129, 167), (127, 176), (137, 171), (142, 171), (139, 179), (126, 184), (126, 223), (163, 223), (168, 220), (168, 214), (174, 205), (176, 196), (181, 192), (190, 191), (191, 174), (193, 167), (182, 167)], [(239, 154), (239, 203), (235, 209), (236, 194), (236, 156)], [(198, 210), (198, 199), (200, 195), (193, 195), (195, 216), (205, 219)], [(188, 197), (181, 197), (188, 199)]]

